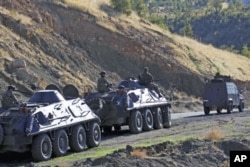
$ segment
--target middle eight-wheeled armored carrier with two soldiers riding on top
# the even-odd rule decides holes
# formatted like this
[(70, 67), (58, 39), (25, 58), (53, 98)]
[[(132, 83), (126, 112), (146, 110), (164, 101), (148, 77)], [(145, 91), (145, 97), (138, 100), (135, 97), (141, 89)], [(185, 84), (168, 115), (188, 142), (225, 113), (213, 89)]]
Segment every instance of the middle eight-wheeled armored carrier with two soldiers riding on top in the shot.
[(100, 117), (105, 133), (128, 125), (132, 133), (171, 126), (171, 104), (154, 90), (141, 86), (136, 79), (121, 81), (107, 93), (88, 93), (89, 107)]

